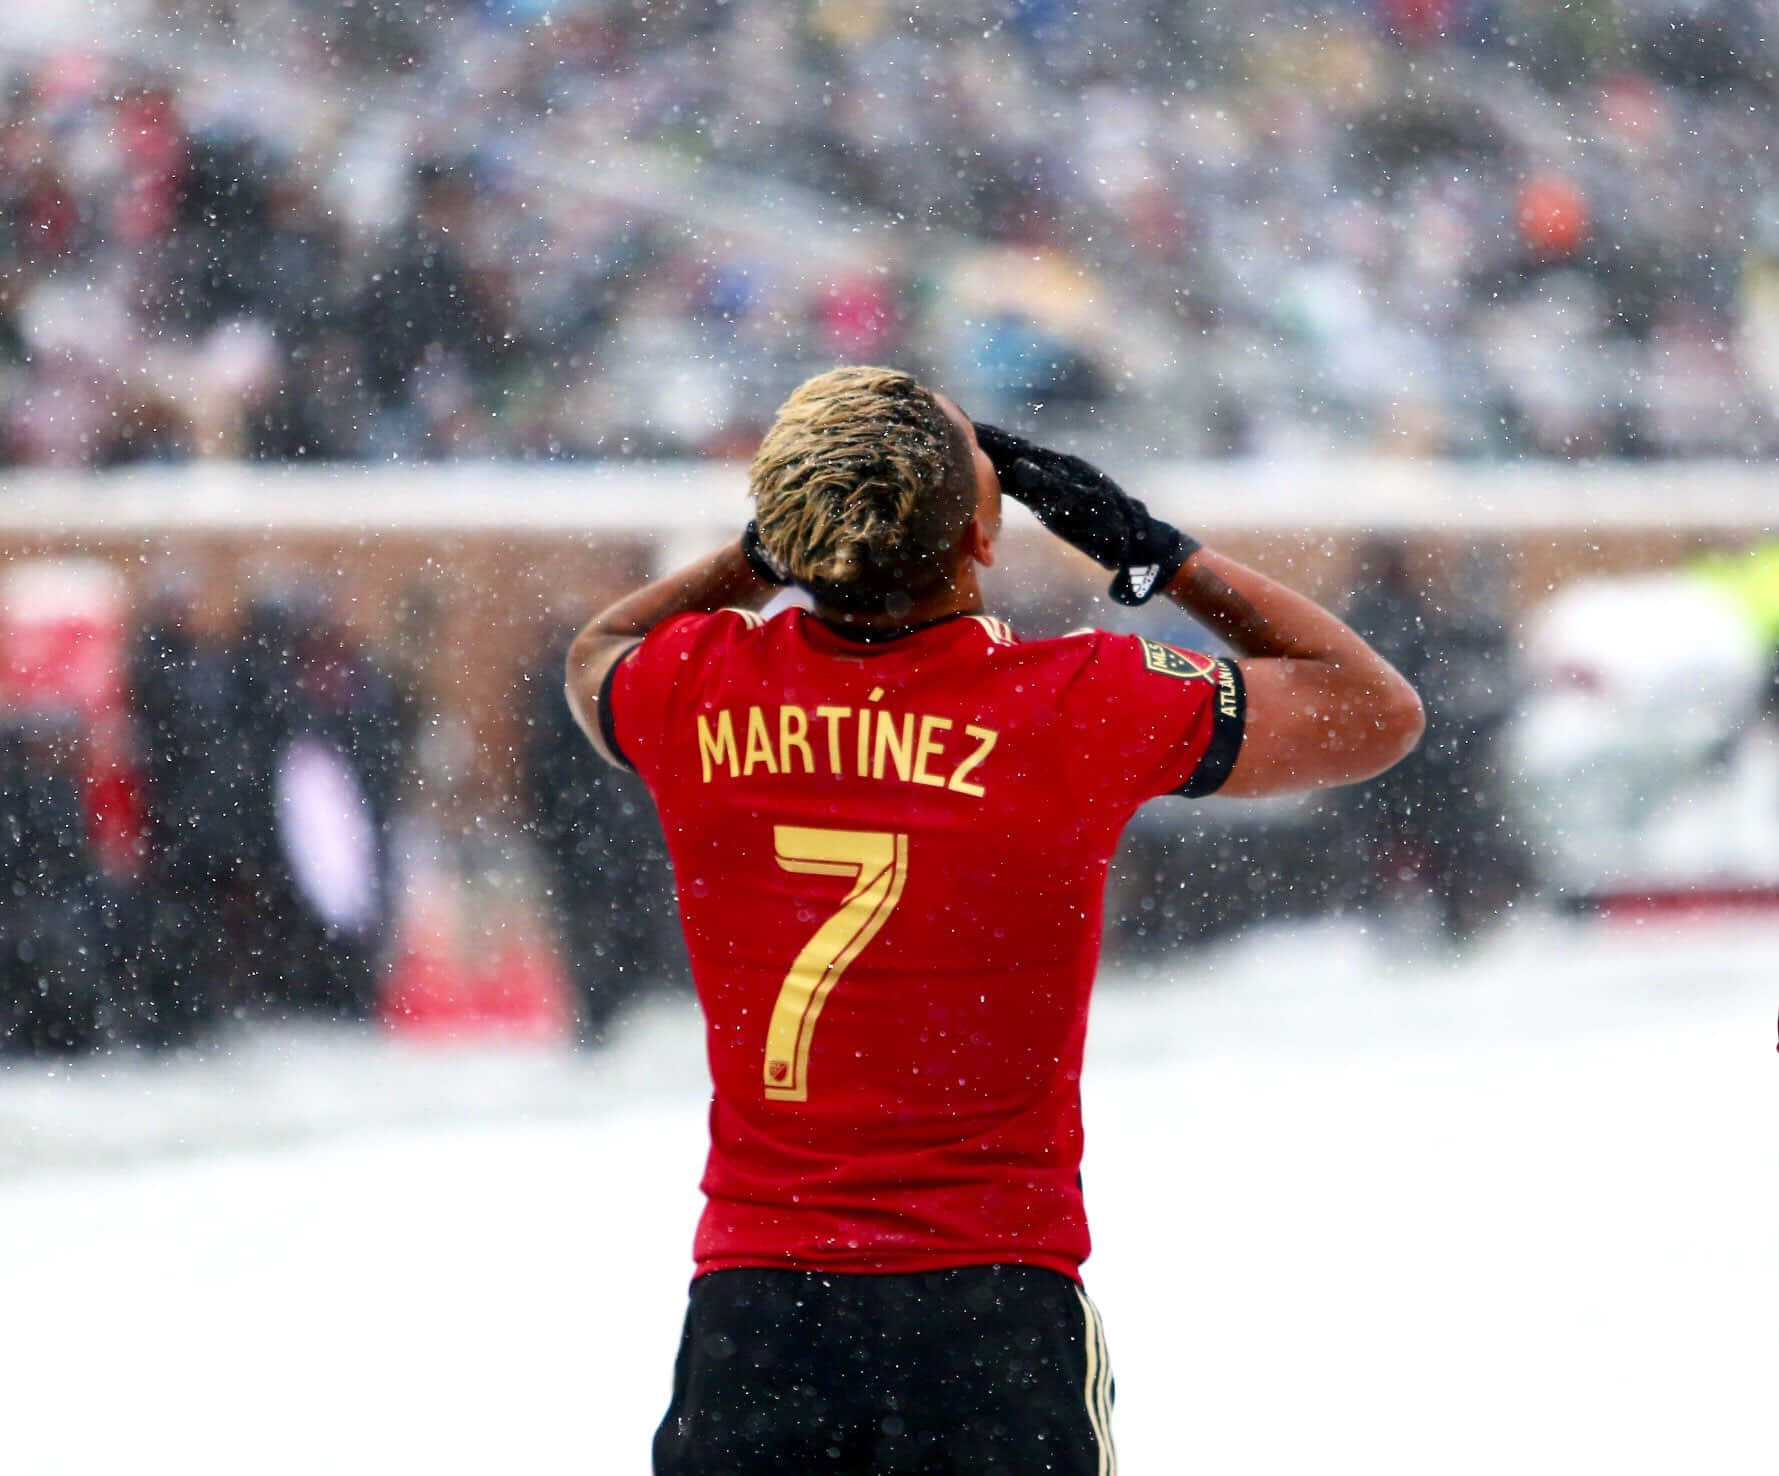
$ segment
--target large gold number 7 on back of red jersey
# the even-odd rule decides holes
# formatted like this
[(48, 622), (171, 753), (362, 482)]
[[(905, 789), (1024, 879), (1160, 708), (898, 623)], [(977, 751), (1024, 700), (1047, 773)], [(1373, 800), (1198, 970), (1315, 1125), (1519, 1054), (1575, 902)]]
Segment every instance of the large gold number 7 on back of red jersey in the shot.
[(767, 1026), (765, 1090), (776, 1103), (809, 1101), (809, 1042), (822, 1005), (847, 964), (877, 937), (902, 900), (907, 836), (890, 830), (815, 830), (774, 825), (772, 846), (786, 871), (850, 877), (840, 907), (815, 930), (779, 985)]

